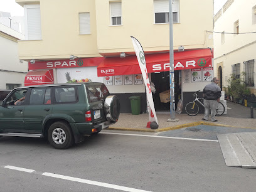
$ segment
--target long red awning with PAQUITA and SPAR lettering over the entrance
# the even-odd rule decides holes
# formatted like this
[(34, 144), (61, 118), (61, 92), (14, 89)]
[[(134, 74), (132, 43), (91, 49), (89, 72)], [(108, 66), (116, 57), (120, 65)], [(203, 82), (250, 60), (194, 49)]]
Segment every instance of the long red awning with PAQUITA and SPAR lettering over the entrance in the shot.
[[(147, 72), (169, 71), (169, 53), (145, 55)], [(174, 70), (212, 67), (210, 48), (174, 52)], [(141, 73), (136, 55), (105, 58), (97, 67), (98, 77)]]

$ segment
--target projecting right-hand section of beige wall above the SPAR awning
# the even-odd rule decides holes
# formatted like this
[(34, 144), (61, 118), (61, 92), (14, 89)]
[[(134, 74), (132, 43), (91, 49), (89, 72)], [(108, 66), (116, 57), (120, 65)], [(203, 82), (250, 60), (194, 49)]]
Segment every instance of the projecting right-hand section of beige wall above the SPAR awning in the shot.
[[(122, 26), (110, 26), (109, 0), (95, 2), (100, 53), (134, 51), (130, 36), (144, 51), (169, 50), (169, 24), (154, 24), (153, 0), (122, 1)], [(173, 24), (174, 49), (213, 47), (212, 33), (206, 33), (213, 29), (212, 1), (180, 0), (179, 9), (180, 23)]]

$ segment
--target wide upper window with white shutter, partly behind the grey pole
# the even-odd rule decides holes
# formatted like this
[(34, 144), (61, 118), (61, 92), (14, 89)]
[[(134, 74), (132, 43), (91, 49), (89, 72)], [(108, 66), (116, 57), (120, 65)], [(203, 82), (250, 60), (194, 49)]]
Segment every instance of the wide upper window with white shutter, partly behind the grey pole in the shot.
[[(179, 0), (172, 0), (173, 23), (179, 21)], [(155, 23), (169, 23), (169, 0), (154, 0)]]

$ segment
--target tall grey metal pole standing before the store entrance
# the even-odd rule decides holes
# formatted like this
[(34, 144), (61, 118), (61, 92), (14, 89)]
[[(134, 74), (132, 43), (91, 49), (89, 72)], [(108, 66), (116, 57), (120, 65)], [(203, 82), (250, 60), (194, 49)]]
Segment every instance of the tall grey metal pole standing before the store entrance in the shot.
[(172, 0), (169, 0), (169, 60), (170, 60), (170, 113), (171, 119), (169, 122), (178, 122), (179, 119), (175, 119), (175, 99), (174, 99), (174, 54), (173, 54), (173, 6)]

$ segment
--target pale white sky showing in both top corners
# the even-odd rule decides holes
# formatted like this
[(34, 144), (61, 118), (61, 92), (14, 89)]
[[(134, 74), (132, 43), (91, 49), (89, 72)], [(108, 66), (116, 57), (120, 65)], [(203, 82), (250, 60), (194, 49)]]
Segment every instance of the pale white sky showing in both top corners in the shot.
[[(227, 0), (214, 0), (214, 14), (216, 14), (226, 2)], [(9, 12), (11, 16), (24, 15), (23, 7), (16, 3), (15, 0), (0, 0), (0, 11)]]

